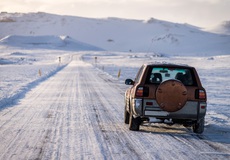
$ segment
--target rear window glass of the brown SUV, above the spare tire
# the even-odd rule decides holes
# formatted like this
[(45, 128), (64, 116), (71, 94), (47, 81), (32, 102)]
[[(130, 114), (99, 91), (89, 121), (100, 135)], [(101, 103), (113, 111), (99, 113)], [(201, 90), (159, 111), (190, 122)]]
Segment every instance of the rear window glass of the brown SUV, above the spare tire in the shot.
[(177, 79), (186, 86), (197, 85), (193, 70), (189, 68), (167, 68), (167, 67), (152, 67), (149, 70), (146, 83), (160, 84), (169, 79)]

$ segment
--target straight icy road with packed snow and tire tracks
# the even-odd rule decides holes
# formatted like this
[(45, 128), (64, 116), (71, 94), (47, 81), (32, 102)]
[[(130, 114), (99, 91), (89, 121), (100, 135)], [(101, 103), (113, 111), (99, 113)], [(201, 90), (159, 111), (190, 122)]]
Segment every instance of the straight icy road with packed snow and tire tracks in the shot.
[(124, 87), (79, 56), (0, 112), (0, 159), (229, 159), (183, 126), (123, 123)]

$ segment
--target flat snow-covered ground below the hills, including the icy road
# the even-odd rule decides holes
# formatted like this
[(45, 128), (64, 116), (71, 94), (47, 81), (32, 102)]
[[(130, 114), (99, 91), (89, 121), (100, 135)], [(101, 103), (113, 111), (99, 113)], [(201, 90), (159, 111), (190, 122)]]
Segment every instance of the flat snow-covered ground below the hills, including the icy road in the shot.
[[(0, 55), (0, 159), (230, 158), (229, 55), (17, 49)], [(202, 135), (162, 124), (131, 132), (123, 123), (124, 80), (152, 61), (197, 68), (208, 93)]]

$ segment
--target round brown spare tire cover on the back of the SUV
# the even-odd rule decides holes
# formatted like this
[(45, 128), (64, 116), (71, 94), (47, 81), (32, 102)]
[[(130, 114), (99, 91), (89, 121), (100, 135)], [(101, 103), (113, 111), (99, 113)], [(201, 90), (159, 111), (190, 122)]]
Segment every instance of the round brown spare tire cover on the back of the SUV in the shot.
[(164, 111), (178, 111), (184, 107), (187, 101), (187, 89), (178, 80), (164, 81), (156, 90), (156, 101)]

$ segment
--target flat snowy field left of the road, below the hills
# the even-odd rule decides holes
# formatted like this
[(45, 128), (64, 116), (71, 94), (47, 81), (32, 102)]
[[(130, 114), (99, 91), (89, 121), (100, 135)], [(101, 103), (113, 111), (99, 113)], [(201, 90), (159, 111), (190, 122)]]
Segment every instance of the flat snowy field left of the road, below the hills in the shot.
[(71, 54), (55, 50), (10, 50), (0, 53), (0, 108), (55, 74), (71, 58)]

